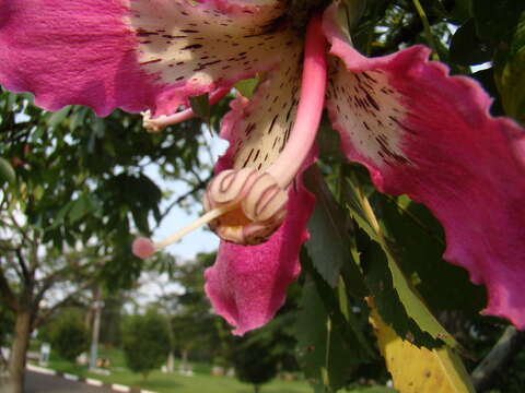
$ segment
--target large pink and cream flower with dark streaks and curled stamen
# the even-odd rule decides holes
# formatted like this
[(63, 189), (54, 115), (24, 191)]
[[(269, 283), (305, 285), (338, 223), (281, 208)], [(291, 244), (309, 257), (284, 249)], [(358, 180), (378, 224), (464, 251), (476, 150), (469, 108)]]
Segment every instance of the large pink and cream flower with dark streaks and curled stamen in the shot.
[[(149, 110), (145, 124), (158, 130), (192, 115), (177, 112), (189, 96), (217, 100), (266, 75), (222, 121), (230, 147), (208, 213), (174, 237), (210, 223), (223, 239), (206, 290), (236, 334), (271, 319), (299, 273), (314, 205), (300, 175), (315, 159), (324, 107), (346, 156), (378, 190), (406, 193), (440, 219), (444, 258), (488, 287), (486, 312), (524, 329), (524, 130), (491, 117), (478, 83), (450, 76), (423, 46), (361, 56), (337, 5), (312, 17), (304, 39), (278, 0), (2, 0), (0, 84), (49, 110)], [(148, 257), (168, 241), (133, 249)]]

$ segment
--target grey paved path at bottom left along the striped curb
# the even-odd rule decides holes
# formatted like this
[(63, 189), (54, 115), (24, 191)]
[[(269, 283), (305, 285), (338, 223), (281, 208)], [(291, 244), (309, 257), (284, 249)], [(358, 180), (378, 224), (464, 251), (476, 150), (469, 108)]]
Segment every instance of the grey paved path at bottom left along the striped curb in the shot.
[(106, 388), (90, 386), (83, 382), (73, 382), (60, 377), (27, 371), (24, 393), (108, 393)]

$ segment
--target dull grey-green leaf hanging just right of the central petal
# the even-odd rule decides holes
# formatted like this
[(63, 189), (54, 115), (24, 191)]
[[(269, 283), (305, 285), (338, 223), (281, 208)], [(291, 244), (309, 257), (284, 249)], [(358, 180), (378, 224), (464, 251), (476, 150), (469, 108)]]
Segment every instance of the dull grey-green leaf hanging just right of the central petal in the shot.
[(313, 265), (331, 287), (336, 286), (346, 265), (352, 278), (351, 290), (362, 298), (366, 295), (366, 288), (351, 253), (354, 240), (350, 236), (347, 213), (335, 200), (317, 167), (311, 167), (304, 179), (316, 199), (314, 213), (308, 221), (311, 238), (305, 245)]

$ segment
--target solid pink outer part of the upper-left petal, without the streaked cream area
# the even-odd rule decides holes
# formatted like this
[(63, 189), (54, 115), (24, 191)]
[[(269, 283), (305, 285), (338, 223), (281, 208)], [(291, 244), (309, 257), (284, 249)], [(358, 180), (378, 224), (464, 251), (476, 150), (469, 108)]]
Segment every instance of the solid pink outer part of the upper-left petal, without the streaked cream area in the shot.
[(154, 78), (139, 68), (127, 14), (118, 0), (1, 1), (0, 84), (35, 93), (49, 110), (153, 106)]

